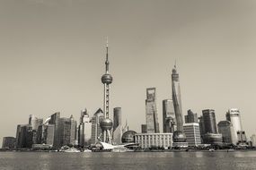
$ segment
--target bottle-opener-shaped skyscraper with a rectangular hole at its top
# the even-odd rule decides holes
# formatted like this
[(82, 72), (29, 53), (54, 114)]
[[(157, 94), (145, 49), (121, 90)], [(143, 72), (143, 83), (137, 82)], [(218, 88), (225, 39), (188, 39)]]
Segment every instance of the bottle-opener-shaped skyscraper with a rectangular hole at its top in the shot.
[(146, 132), (159, 132), (155, 88), (146, 89)]

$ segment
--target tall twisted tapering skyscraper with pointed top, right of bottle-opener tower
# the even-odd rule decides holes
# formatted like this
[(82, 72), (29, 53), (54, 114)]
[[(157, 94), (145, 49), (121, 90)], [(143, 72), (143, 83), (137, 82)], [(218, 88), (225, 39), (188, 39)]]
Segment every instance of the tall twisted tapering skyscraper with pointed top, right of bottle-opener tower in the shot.
[(183, 132), (183, 115), (181, 108), (181, 88), (179, 81), (179, 73), (176, 69), (176, 64), (172, 69), (172, 101), (175, 111), (177, 131)]

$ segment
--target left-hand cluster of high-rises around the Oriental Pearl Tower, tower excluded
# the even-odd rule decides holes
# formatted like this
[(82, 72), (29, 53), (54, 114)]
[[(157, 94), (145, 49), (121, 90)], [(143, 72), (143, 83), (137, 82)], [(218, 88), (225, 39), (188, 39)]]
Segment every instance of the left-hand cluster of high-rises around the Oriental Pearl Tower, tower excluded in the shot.
[[(18, 124), (16, 138), (4, 137), (3, 149), (60, 149), (63, 146), (78, 146), (81, 148), (103, 141), (101, 122), (103, 111), (99, 108), (93, 117), (87, 110), (81, 111), (79, 123), (73, 115), (69, 118), (60, 117), (57, 112), (43, 119), (30, 115), (29, 123)], [(121, 126), (121, 108), (114, 108), (113, 144), (120, 144), (122, 133), (128, 131), (128, 126)]]

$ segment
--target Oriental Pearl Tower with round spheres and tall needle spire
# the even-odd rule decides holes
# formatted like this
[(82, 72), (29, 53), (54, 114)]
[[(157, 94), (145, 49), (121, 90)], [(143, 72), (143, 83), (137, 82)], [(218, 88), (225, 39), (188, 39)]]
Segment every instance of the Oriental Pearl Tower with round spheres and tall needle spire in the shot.
[(110, 130), (112, 129), (113, 122), (109, 118), (109, 110), (110, 110), (110, 83), (113, 81), (112, 76), (109, 73), (109, 47), (108, 40), (106, 46), (106, 61), (105, 61), (105, 73), (102, 75), (102, 83), (104, 84), (104, 103), (103, 103), (103, 112), (104, 119), (101, 122), (101, 128), (103, 133), (103, 142), (112, 144)]

